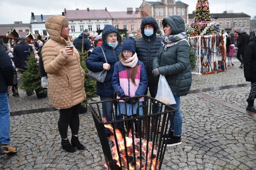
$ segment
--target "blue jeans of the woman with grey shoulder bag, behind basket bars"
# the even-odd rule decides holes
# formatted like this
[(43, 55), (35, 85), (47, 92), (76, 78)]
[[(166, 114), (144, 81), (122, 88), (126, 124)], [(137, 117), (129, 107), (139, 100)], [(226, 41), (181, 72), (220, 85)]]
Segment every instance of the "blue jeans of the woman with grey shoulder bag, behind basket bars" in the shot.
[[(100, 100), (104, 101), (104, 100), (112, 100), (114, 99), (113, 96), (110, 97), (103, 97), (100, 96)], [(120, 117), (117, 116), (117, 102), (113, 102), (114, 104), (114, 111), (115, 111), (115, 119), (119, 120)], [(113, 113), (112, 113), (112, 105), (111, 102), (106, 102), (105, 104), (102, 102), (102, 117), (106, 117), (107, 121), (112, 121), (113, 120)], [(107, 111), (107, 112), (106, 112)], [(117, 123), (117, 128), (121, 128), (120, 123)], [(105, 128), (107, 133), (110, 133), (109, 129)]]

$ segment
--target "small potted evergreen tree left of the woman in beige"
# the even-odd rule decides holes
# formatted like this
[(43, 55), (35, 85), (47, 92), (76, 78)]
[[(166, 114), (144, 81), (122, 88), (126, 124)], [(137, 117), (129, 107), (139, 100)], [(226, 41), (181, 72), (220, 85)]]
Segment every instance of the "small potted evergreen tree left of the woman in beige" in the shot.
[(27, 66), (26, 70), (21, 69), (23, 74), (21, 75), (22, 85), (20, 88), (25, 91), (36, 92), (36, 96), (38, 99), (47, 97), (47, 88), (43, 88), (41, 86), (41, 76), (39, 72), (39, 65), (37, 63), (37, 58), (35, 58), (35, 54), (30, 52), (30, 55), (27, 57), (29, 60), (25, 61)]

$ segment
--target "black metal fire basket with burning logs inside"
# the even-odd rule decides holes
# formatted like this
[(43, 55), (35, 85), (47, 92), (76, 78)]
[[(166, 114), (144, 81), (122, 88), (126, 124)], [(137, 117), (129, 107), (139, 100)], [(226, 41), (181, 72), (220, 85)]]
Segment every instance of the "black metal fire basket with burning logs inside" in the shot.
[[(118, 113), (121, 112), (120, 103), (122, 101), (120, 100), (125, 101), (123, 103), (127, 109), (127, 101), (132, 101), (135, 98), (138, 101), (140, 98), (144, 98), (144, 101), (142, 105), (139, 105), (139, 102), (135, 103), (137, 110), (133, 111), (132, 109), (132, 116), (128, 116), (127, 111), (124, 116), (115, 116), (118, 111)], [(113, 120), (106, 120), (102, 117), (102, 106), (109, 102), (112, 106)], [(97, 101), (88, 105), (108, 169), (161, 169), (166, 150), (165, 142), (170, 135), (170, 127), (176, 109), (147, 95)], [(117, 110), (114, 105), (118, 106)], [(143, 116), (139, 115), (140, 109), (143, 110)], [(171, 117), (169, 113), (173, 113)], [(106, 127), (110, 128), (111, 133), (106, 133)], [(163, 138), (164, 134), (167, 134), (167, 138)]]

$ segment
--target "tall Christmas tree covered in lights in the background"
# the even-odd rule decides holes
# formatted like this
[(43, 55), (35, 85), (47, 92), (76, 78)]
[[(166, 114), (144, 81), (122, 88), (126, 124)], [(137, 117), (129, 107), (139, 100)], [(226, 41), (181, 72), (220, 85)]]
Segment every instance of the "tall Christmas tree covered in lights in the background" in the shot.
[[(196, 4), (193, 29), (198, 35), (200, 35), (208, 23), (211, 23), (209, 2), (208, 0), (198, 0)], [(212, 27), (207, 30), (206, 34), (212, 34)]]

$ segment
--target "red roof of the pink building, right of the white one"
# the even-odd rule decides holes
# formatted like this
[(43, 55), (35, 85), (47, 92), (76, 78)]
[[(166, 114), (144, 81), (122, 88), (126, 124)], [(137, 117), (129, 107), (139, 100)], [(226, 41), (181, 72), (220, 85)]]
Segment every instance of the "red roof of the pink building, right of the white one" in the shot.
[(143, 18), (141, 11), (120, 11), (120, 12), (109, 12), (112, 18)]

